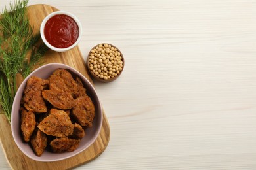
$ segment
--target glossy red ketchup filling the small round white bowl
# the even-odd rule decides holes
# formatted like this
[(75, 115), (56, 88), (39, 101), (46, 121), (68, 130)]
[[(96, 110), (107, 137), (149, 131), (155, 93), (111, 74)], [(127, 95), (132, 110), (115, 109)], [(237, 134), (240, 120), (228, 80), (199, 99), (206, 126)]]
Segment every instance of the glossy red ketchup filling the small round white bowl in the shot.
[(78, 39), (79, 27), (75, 20), (65, 14), (50, 18), (45, 24), (45, 39), (56, 48), (68, 48)]

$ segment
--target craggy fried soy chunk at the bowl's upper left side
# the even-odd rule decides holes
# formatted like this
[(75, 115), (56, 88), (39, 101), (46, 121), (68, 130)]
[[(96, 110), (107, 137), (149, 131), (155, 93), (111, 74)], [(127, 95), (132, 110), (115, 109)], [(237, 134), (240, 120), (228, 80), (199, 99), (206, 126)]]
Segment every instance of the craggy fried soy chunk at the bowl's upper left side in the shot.
[(42, 91), (48, 83), (48, 80), (43, 80), (36, 76), (28, 79), (21, 102), (27, 110), (35, 113), (47, 112)]

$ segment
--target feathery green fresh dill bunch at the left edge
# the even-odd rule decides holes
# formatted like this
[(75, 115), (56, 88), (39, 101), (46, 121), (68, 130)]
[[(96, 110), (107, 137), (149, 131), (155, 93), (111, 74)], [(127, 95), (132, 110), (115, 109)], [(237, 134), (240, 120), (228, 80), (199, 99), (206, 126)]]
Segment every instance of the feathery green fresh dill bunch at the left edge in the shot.
[(0, 107), (11, 119), (11, 107), (16, 94), (16, 75), (28, 76), (33, 66), (48, 49), (33, 34), (28, 20), (28, 0), (10, 3), (0, 16)]

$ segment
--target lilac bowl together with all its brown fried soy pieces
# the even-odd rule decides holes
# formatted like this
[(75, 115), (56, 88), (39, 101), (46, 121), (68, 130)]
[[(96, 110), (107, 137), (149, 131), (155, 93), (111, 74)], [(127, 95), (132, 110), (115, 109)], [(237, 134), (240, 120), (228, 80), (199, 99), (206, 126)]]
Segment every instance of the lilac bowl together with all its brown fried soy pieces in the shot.
[(95, 88), (68, 65), (50, 63), (35, 69), (16, 92), (12, 136), (33, 160), (58, 161), (79, 154), (93, 144), (101, 126)]

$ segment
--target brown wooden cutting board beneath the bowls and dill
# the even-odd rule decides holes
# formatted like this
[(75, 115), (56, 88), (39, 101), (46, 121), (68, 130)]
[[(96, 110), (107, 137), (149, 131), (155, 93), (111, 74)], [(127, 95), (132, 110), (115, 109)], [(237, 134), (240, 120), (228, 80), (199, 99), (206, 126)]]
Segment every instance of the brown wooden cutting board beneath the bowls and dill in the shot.
[[(56, 10), (58, 9), (49, 5), (32, 5), (28, 7), (30, 24), (33, 25), (35, 33), (39, 33), (40, 24), (43, 18), (45, 18), (47, 14), (50, 14)], [(83, 60), (83, 56), (81, 55), (78, 46), (72, 50), (69, 50), (68, 52), (62, 53), (49, 50), (45, 54), (44, 59), (45, 64), (54, 62), (70, 65), (86, 76), (88, 80), (93, 83), (87, 72), (85, 61)], [(18, 146), (16, 146), (16, 143), (12, 138), (11, 125), (9, 124), (5, 115), (0, 114), (0, 142), (3, 151), (5, 152), (7, 161), (12, 169), (71, 169), (97, 158), (102, 152), (104, 152), (109, 140), (110, 127), (103, 111), (103, 123), (100, 135), (98, 135), (95, 143), (87, 148), (87, 150), (81, 152), (77, 156), (62, 161), (47, 163), (34, 161), (25, 156), (20, 151)]]

